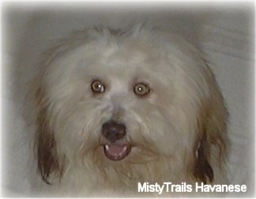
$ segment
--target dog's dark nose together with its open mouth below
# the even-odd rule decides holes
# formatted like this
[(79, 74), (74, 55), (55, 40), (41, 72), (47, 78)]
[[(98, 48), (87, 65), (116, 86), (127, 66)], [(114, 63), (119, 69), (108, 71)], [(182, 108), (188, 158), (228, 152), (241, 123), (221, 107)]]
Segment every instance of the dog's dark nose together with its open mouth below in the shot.
[(102, 125), (102, 134), (109, 141), (104, 145), (104, 153), (110, 160), (122, 160), (130, 153), (130, 146), (122, 141), (126, 135), (126, 126), (115, 120)]

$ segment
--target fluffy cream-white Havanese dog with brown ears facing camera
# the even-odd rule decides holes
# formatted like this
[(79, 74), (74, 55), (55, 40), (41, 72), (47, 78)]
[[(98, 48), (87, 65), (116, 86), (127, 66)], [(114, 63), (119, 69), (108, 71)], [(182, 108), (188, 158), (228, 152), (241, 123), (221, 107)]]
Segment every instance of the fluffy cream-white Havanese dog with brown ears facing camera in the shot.
[[(32, 95), (43, 196), (140, 196), (137, 182), (225, 182), (228, 112), (193, 46), (154, 28), (81, 31)], [(120, 195), (122, 194), (122, 195)]]

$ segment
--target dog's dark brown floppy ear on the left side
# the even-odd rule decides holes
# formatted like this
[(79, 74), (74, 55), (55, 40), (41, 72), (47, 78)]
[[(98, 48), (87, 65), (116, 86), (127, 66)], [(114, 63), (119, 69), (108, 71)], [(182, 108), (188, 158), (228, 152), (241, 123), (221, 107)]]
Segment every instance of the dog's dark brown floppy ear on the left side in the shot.
[(35, 142), (37, 168), (40, 171), (43, 181), (50, 184), (48, 181), (50, 175), (55, 173), (61, 176), (62, 168), (58, 160), (54, 133), (50, 127), (50, 103), (47, 102), (41, 87), (36, 90), (36, 103), (38, 106)]

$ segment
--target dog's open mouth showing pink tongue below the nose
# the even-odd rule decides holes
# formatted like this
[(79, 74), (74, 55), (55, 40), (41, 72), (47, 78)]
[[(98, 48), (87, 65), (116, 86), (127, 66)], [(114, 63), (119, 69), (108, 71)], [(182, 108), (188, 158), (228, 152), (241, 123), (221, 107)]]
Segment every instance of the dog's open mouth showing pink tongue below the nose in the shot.
[(126, 144), (106, 144), (104, 145), (104, 153), (110, 160), (122, 160), (130, 153), (131, 147)]

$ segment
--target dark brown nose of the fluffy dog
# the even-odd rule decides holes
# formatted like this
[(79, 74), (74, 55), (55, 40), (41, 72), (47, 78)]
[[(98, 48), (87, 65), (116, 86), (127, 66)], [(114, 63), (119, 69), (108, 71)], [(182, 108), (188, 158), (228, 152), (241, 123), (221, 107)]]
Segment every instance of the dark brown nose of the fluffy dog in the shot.
[(110, 142), (115, 142), (126, 135), (126, 126), (111, 120), (102, 125), (102, 133)]

